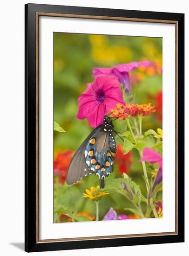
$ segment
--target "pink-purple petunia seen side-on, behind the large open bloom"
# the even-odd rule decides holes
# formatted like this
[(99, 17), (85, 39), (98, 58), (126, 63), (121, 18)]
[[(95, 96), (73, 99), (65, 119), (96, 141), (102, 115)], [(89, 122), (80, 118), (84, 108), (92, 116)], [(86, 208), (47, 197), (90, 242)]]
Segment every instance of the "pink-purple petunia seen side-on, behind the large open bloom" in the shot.
[(126, 94), (131, 94), (131, 83), (129, 78), (129, 72), (134, 70), (136, 67), (144, 66), (148, 67), (150, 64), (149, 61), (133, 61), (126, 64), (120, 64), (117, 66), (113, 66), (111, 68), (105, 67), (95, 67), (93, 68), (93, 76), (96, 78), (101, 74), (109, 74), (112, 76), (117, 76), (120, 83), (123, 84), (123, 89)]

